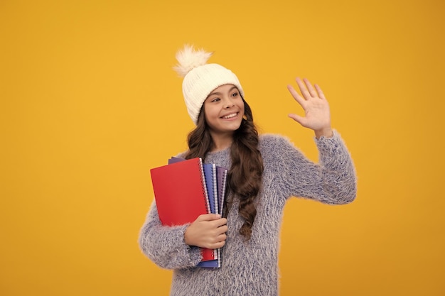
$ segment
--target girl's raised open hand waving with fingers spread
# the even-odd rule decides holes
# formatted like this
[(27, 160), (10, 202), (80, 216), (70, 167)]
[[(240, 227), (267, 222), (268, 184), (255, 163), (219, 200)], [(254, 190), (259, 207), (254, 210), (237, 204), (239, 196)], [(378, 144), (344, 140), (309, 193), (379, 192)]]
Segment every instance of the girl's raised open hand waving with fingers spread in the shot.
[(294, 87), (287, 86), (292, 97), (304, 109), (304, 116), (297, 114), (289, 114), (291, 119), (301, 124), (306, 128), (311, 128), (315, 131), (317, 138), (321, 136), (331, 137), (333, 135), (331, 128), (331, 112), (329, 111), (329, 104), (324, 97), (323, 91), (317, 84), (312, 87), (311, 82), (304, 78), (296, 78), (302, 97)]

